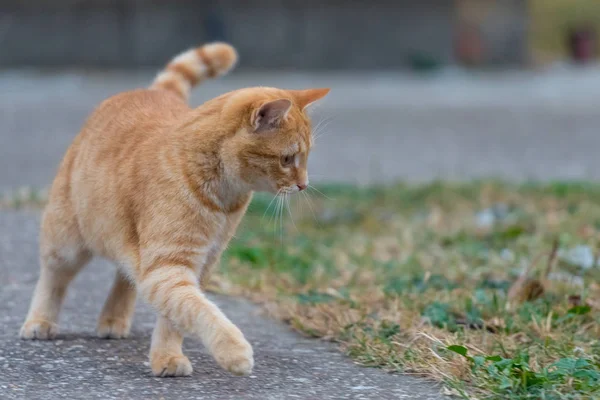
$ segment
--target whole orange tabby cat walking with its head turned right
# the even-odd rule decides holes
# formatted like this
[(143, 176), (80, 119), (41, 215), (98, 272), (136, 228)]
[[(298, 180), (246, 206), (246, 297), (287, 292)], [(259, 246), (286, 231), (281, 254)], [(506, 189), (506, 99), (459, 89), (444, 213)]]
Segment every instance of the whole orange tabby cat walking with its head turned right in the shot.
[(222, 75), (235, 50), (213, 43), (177, 56), (152, 86), (104, 101), (67, 151), (44, 212), (40, 278), (21, 337), (56, 335), (68, 284), (93, 255), (117, 274), (98, 335), (127, 336), (136, 292), (158, 312), (150, 364), (157, 376), (190, 375), (184, 333), (216, 361), (247, 375), (242, 332), (206, 298), (205, 281), (253, 191), (308, 185), (306, 107), (329, 89), (236, 90), (191, 109), (190, 88)]

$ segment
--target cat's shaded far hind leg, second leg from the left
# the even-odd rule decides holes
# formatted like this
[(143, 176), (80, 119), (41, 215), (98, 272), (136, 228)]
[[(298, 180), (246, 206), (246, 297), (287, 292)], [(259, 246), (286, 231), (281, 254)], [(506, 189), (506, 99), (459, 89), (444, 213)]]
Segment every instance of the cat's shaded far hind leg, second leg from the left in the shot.
[(117, 270), (110, 294), (98, 319), (96, 332), (99, 337), (121, 339), (129, 335), (136, 295), (135, 286), (125, 274)]

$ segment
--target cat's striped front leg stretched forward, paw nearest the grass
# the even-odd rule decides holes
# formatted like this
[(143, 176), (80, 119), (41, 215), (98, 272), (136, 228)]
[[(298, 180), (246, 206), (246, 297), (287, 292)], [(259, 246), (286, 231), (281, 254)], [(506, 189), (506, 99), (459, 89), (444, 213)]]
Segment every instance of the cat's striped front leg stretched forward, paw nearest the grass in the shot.
[(186, 260), (185, 255), (162, 256), (143, 265), (140, 293), (177, 329), (199, 337), (221, 367), (236, 375), (250, 374), (252, 346), (202, 293), (193, 263)]

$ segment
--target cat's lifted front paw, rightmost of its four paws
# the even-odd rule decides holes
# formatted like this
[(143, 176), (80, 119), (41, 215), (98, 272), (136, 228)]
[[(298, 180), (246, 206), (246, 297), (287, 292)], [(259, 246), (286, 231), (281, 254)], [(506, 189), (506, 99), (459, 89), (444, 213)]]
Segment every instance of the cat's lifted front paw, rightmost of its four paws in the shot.
[(254, 367), (252, 346), (242, 336), (229, 336), (217, 342), (213, 348), (217, 363), (235, 375), (250, 375)]

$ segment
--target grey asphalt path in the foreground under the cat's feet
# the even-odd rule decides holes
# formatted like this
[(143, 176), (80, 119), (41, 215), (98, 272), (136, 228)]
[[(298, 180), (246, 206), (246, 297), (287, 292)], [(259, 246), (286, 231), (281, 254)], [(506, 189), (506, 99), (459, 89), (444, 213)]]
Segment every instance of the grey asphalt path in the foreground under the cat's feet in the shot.
[(95, 260), (70, 288), (55, 341), (18, 332), (38, 275), (36, 212), (0, 211), (0, 399), (439, 399), (439, 388), (408, 376), (362, 368), (331, 343), (301, 338), (247, 302), (212, 296), (254, 346), (249, 377), (222, 371), (186, 339), (194, 366), (186, 378), (154, 378), (147, 354), (154, 314), (138, 304), (132, 334), (102, 340), (94, 327), (114, 267)]

